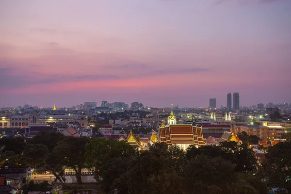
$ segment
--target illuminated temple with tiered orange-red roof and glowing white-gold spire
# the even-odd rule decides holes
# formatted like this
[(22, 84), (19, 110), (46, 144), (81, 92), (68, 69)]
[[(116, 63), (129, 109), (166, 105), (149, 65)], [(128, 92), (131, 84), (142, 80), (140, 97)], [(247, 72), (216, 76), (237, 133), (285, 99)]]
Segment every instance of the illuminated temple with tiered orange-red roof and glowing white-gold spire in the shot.
[(160, 141), (167, 144), (177, 144), (183, 149), (190, 145), (205, 146), (203, 141), (202, 128), (193, 125), (177, 125), (176, 117), (173, 114), (173, 108), (168, 117), (167, 126), (162, 121), (162, 127), (159, 129)]

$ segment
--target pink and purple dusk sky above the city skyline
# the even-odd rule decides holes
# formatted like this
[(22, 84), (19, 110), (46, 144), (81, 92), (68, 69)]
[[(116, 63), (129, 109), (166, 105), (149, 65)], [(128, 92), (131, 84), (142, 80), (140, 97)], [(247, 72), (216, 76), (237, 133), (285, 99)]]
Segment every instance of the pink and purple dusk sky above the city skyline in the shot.
[(0, 0), (0, 106), (291, 103), (291, 0)]

